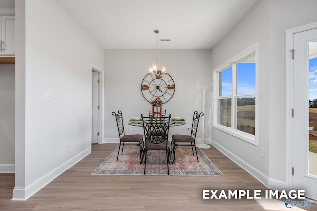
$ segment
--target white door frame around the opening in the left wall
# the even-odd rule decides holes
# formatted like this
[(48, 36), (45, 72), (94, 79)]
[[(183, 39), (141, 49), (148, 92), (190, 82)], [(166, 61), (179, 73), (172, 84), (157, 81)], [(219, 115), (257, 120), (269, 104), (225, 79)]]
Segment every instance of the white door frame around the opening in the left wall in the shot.
[[(99, 68), (97, 65), (90, 64), (90, 70), (89, 70), (89, 76), (90, 76), (90, 116), (92, 115), (92, 81), (91, 81), (91, 73), (92, 70), (97, 71), (100, 75), (99, 77), (99, 84), (98, 84), (98, 102), (100, 106), (100, 112), (98, 112), (98, 131), (99, 131), (99, 137), (98, 137), (98, 144), (103, 143), (103, 137), (104, 137), (104, 70)], [(92, 133), (92, 122), (90, 121), (90, 134)], [(90, 143), (91, 143), (91, 136), (90, 136)]]

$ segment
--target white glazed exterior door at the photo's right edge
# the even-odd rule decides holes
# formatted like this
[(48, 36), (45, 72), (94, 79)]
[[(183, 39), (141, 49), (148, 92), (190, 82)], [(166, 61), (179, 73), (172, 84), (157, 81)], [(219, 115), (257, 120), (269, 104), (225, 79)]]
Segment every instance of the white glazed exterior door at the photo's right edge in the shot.
[(293, 188), (317, 199), (317, 29), (294, 34), (293, 49)]

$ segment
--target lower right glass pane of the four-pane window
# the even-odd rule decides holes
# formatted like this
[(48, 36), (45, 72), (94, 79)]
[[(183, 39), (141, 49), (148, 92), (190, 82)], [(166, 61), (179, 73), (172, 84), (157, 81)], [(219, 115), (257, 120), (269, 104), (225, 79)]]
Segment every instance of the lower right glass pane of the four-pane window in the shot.
[(255, 134), (256, 98), (236, 98), (236, 126), (237, 130)]

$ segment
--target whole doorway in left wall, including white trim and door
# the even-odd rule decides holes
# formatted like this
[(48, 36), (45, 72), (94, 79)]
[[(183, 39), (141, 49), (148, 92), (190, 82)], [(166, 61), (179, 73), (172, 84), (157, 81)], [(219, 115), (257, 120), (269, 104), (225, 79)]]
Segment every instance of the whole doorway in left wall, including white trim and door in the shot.
[(91, 66), (91, 143), (102, 143), (103, 135), (103, 70)]

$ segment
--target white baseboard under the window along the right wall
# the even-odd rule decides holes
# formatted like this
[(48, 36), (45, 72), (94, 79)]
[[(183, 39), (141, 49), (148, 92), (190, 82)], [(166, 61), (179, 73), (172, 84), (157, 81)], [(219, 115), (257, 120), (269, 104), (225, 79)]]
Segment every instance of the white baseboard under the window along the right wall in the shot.
[(211, 144), (217, 148), (220, 152), (226, 155), (229, 159), (231, 159), (234, 163), (240, 166), (242, 169), (250, 173), (254, 178), (256, 178), (259, 182), (261, 182), (265, 187), (273, 190), (285, 190), (286, 183), (277, 179), (269, 178), (264, 173), (251, 166), (235, 154), (233, 154), (228, 149), (224, 148), (222, 145), (217, 143), (214, 140), (211, 140)]

